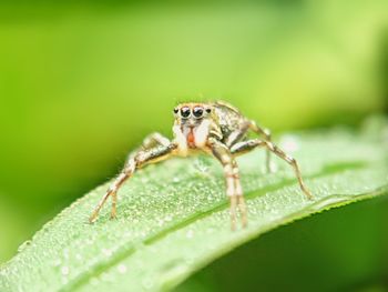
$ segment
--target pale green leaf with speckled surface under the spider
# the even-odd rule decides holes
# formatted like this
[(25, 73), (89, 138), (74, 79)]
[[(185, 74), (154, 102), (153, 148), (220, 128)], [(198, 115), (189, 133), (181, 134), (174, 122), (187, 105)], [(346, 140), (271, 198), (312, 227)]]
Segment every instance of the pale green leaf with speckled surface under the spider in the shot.
[[(387, 132), (387, 127), (385, 129)], [(299, 161), (315, 195), (305, 199), (288, 164), (264, 151), (238, 158), (248, 226), (231, 231), (222, 168), (210, 157), (172, 159), (136, 173), (119, 192), (119, 218), (106, 205), (88, 218), (108, 184), (45, 224), (0, 271), (0, 291), (169, 290), (259, 234), (294, 220), (387, 193), (381, 131), (288, 134), (278, 144)]]

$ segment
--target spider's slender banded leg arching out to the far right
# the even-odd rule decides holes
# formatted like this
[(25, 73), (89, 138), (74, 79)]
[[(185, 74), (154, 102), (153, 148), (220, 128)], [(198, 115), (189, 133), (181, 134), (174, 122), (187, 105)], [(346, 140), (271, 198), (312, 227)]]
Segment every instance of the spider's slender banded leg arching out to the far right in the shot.
[(295, 171), (296, 178), (298, 179), (302, 191), (305, 193), (307, 199), (313, 200), (313, 195), (310, 191), (307, 189), (305, 182), (302, 179), (302, 173), (300, 173), (298, 162), (290, 155), (286, 154), (282, 149), (279, 149), (274, 143), (269, 141), (263, 141), (259, 139), (253, 139), (253, 140), (243, 141), (234, 144), (231, 149), (231, 152), (234, 155), (239, 155), (258, 147), (265, 147), (268, 151), (275, 153), (276, 155), (285, 160), (288, 164), (290, 164)]

